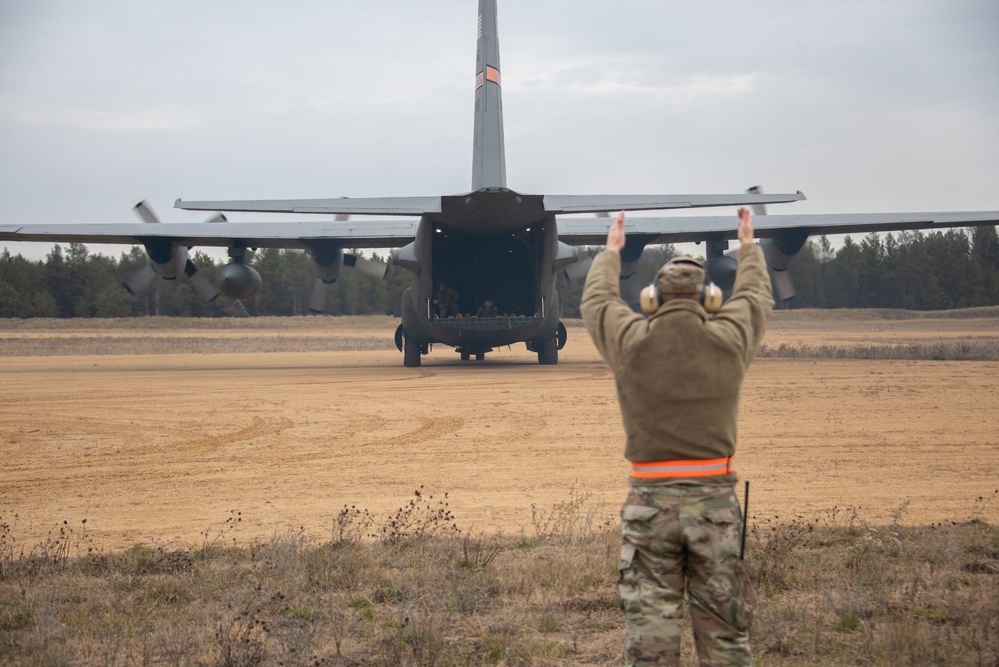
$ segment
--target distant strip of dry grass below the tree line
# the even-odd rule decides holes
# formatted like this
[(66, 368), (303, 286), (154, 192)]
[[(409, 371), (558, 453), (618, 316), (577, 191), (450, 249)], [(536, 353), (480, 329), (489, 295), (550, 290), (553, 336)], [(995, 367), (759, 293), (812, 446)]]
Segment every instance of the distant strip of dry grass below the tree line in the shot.
[[(399, 323), (382, 315), (6, 319), (0, 357), (392, 350)], [(572, 338), (587, 335), (581, 320), (564, 324)], [(760, 356), (994, 361), (999, 307), (777, 311)]]

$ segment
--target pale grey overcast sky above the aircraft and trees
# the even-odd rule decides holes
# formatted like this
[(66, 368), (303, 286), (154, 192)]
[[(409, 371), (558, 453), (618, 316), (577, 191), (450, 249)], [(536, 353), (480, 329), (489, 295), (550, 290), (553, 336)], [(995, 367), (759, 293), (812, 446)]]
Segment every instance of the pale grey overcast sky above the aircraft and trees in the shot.
[[(465, 192), (476, 13), (0, 0), (0, 223)], [(995, 0), (500, 0), (499, 20), (515, 190), (761, 184), (808, 197), (775, 213), (999, 210)]]

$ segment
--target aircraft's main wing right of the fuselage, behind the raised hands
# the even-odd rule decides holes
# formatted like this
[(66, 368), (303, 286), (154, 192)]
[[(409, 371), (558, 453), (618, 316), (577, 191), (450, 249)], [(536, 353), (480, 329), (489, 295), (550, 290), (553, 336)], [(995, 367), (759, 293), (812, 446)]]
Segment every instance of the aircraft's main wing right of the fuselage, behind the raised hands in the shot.
[[(648, 244), (689, 243), (737, 238), (735, 215), (640, 217), (626, 216), (625, 234), (652, 237)], [(999, 225), (999, 211), (946, 213), (825, 213), (753, 216), (757, 238), (786, 230), (807, 230), (809, 236), (859, 234), (906, 229), (947, 229)], [(603, 245), (610, 227), (608, 218), (559, 218), (558, 236), (569, 245)]]

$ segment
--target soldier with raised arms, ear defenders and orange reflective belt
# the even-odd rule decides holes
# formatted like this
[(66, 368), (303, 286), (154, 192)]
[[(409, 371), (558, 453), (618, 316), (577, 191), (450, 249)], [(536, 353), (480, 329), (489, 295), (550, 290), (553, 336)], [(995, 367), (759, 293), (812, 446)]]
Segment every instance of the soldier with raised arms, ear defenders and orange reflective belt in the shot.
[(631, 462), (617, 587), (629, 665), (679, 664), (684, 591), (701, 664), (751, 663), (756, 593), (740, 558), (732, 457), (743, 376), (773, 298), (745, 209), (738, 237), (735, 286), (724, 305), (719, 299), (705, 309), (700, 262), (675, 258), (643, 292), (646, 318), (619, 295), (622, 211), (583, 290), (583, 321), (614, 372)]

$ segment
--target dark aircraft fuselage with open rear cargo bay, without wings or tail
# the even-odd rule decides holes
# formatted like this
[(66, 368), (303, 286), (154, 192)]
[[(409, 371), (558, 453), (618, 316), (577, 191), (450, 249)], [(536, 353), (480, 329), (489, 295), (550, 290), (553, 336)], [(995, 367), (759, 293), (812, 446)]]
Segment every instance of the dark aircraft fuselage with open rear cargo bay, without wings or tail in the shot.
[[(540, 355), (556, 344), (558, 231), (542, 199), (483, 189), (443, 197), (439, 213), (421, 218), (413, 243), (395, 255), (413, 272), (402, 301), (410, 345), (425, 353), (443, 343), (467, 358), (521, 342)], [(435, 303), (441, 283), (456, 292), (452, 308)], [(495, 315), (480, 312), (486, 301), (495, 304)]]

